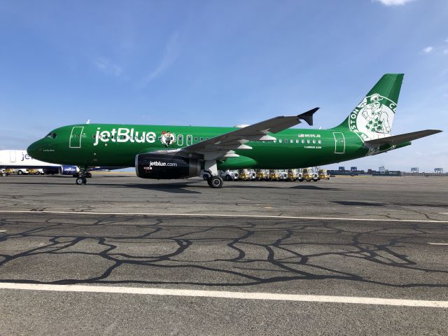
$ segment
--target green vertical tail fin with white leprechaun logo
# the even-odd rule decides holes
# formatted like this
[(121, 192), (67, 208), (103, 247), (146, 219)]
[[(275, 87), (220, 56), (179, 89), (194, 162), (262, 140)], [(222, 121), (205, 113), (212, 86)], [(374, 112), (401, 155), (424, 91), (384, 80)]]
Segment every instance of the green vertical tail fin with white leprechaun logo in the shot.
[(335, 129), (351, 130), (364, 141), (391, 134), (402, 80), (402, 73), (386, 73)]

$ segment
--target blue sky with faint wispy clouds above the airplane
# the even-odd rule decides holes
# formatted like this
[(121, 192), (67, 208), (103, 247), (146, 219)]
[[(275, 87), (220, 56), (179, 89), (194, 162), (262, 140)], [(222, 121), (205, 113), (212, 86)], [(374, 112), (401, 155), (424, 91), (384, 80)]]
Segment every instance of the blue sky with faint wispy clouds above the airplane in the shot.
[(0, 149), (87, 119), (333, 127), (403, 72), (393, 134), (445, 132), (344, 165), (448, 170), (446, 0), (0, 0), (0, 45)]

